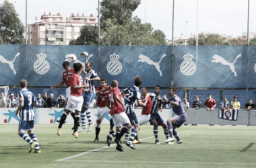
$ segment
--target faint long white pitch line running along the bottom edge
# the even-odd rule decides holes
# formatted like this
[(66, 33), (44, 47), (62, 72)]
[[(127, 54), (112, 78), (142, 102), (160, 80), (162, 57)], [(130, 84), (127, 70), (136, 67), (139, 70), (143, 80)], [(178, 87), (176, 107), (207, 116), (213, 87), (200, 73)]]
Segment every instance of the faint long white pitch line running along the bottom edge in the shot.
[[(65, 160), (68, 161), (68, 160)], [(69, 160), (79, 162), (105, 162), (105, 163), (172, 163), (172, 164), (194, 164), (194, 165), (256, 165), (256, 163), (215, 163), (215, 162), (175, 162), (175, 161), (84, 161), (84, 160)]]

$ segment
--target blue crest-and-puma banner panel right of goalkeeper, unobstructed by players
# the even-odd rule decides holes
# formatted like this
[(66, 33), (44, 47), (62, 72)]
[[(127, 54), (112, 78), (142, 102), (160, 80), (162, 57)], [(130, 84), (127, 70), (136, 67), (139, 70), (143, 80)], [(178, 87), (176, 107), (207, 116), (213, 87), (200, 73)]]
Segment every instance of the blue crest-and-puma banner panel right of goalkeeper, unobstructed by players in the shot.
[(247, 46), (176, 46), (176, 87), (247, 87)]

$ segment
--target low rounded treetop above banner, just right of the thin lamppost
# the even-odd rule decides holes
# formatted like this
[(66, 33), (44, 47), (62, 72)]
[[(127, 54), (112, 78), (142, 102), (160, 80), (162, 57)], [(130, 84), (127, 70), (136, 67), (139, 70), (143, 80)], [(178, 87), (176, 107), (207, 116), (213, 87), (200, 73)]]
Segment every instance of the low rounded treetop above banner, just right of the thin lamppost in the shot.
[[(196, 45), (196, 38), (193, 36), (188, 40), (189, 45)], [(198, 45), (199, 46), (215, 46), (215, 45), (230, 45), (228, 40), (224, 36), (220, 36), (220, 34), (208, 33), (198, 34)]]

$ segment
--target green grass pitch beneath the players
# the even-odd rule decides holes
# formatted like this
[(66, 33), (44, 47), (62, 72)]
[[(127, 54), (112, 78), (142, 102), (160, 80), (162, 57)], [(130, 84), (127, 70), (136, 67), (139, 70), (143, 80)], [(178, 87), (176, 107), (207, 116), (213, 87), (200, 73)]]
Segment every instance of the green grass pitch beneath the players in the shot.
[[(256, 167), (256, 130), (250, 126), (181, 126), (182, 144), (154, 144), (152, 126), (141, 126), (142, 143), (125, 153), (106, 148), (109, 126), (101, 126), (100, 142), (93, 143), (95, 127), (71, 136), (71, 125), (35, 125), (42, 153), (28, 153), (28, 143), (18, 136), (18, 125), (0, 125), (0, 167)], [(57, 161), (59, 160), (59, 161)]]

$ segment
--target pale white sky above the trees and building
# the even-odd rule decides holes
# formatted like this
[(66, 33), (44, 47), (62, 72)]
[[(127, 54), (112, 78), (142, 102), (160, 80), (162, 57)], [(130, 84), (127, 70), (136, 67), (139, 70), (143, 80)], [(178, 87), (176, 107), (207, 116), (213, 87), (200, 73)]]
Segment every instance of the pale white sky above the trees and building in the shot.
[[(11, 0), (9, 0), (11, 1)], [(101, 0), (100, 0), (101, 1)], [(197, 28), (198, 1), (198, 28)], [(0, 0), (0, 4), (3, 0)], [(12, 0), (20, 19), (26, 22), (26, 0)], [(46, 12), (61, 13), (63, 19), (71, 13), (98, 15), (98, 0), (27, 0), (28, 19), (32, 24)], [(249, 32), (256, 32), (256, 0), (250, 0)], [(211, 32), (242, 36), (247, 32), (248, 0), (176, 0), (174, 1), (174, 37), (199, 32)], [(154, 30), (162, 30), (166, 38), (172, 38), (172, 0), (141, 0), (133, 12), (142, 23), (152, 24)], [(186, 24), (187, 22), (187, 24)]]

